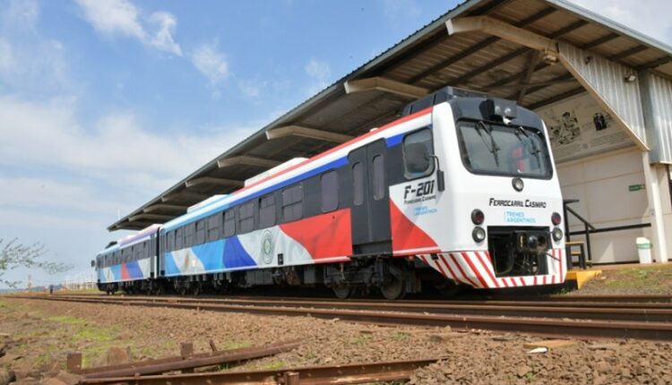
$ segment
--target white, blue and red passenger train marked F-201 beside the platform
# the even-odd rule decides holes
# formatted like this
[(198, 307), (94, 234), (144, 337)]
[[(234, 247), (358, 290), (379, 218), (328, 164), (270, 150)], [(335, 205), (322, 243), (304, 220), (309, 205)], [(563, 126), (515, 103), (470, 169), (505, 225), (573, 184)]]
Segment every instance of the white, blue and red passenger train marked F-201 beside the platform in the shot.
[(547, 128), (512, 100), (446, 88), (313, 158), (108, 244), (99, 290), (197, 295), (325, 286), (395, 300), (423, 287), (564, 282)]

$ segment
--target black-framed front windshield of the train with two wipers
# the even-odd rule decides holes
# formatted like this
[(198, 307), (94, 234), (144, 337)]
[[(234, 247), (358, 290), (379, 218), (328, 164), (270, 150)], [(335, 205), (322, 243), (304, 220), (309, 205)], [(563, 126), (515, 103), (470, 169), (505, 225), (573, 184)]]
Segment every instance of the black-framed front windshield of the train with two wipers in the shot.
[(482, 121), (458, 124), (461, 157), (474, 174), (550, 178), (551, 160), (538, 129)]

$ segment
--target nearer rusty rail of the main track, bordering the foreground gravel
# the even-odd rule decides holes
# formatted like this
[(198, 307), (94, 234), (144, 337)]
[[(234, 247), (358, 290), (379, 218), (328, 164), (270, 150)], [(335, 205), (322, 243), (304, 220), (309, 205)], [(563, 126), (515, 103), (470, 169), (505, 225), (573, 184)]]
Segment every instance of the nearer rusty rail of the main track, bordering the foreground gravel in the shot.
[[(37, 298), (37, 297), (36, 297)], [(41, 299), (41, 298), (38, 298)], [(71, 301), (101, 304), (94, 299), (51, 298), (57, 301)], [(123, 300), (123, 298), (120, 298)], [(110, 304), (112, 302), (108, 302)], [(234, 304), (186, 304), (170, 302), (134, 301), (123, 302), (127, 306), (171, 307), (178, 309), (247, 312), (287, 316), (311, 316), (315, 318), (345, 321), (360, 321), (388, 325), (411, 326), (451, 326), (454, 329), (490, 329), (515, 331), (540, 336), (563, 336), (577, 338), (638, 338), (651, 340), (672, 340), (672, 323), (634, 321), (578, 321), (548, 320), (521, 317), (495, 317), (480, 315), (426, 314), (409, 312), (380, 312), (355, 310), (306, 309), (275, 306), (243, 306)]]

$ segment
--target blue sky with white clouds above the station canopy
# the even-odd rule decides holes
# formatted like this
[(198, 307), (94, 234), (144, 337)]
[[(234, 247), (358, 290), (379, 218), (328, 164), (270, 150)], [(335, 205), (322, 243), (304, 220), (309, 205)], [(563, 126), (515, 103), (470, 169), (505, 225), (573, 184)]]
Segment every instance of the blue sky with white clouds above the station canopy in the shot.
[[(668, 0), (574, 2), (672, 45)], [(90, 278), (119, 216), (457, 3), (0, 0), (0, 239)]]

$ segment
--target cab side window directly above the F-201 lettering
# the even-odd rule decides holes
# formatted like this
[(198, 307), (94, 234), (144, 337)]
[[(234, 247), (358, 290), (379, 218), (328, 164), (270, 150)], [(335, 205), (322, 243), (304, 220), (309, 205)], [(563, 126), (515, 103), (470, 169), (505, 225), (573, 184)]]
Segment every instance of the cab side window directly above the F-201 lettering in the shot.
[(434, 144), (432, 130), (423, 128), (409, 133), (403, 141), (404, 175), (416, 179), (434, 172)]

